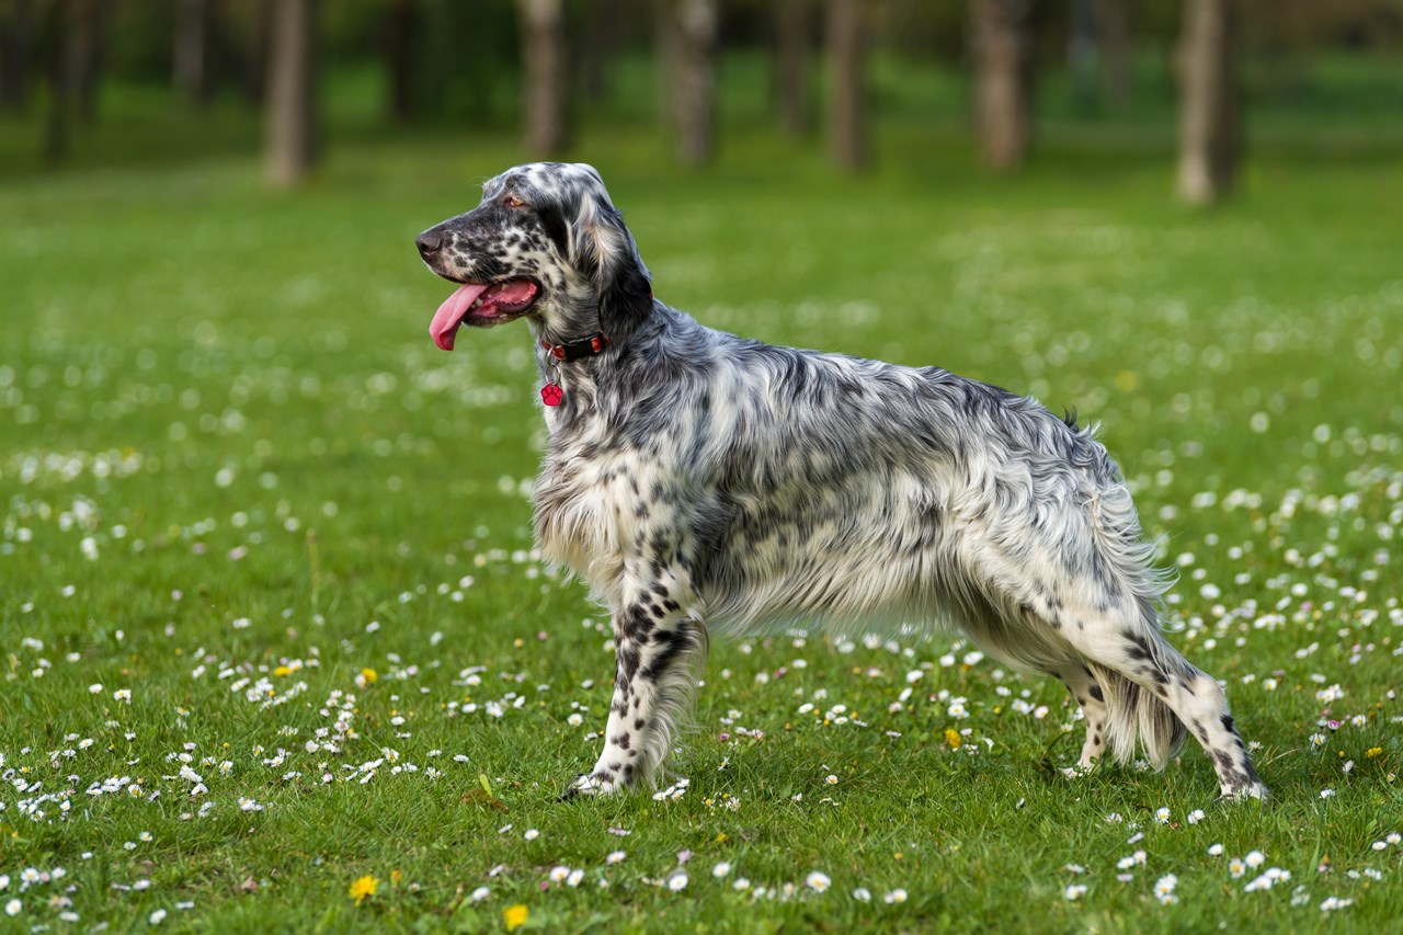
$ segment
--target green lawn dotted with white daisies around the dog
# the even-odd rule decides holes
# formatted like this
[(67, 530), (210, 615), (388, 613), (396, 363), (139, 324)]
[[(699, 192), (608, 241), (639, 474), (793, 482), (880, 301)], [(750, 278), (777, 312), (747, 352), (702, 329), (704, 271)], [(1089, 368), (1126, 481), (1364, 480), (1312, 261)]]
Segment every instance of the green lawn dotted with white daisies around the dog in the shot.
[(1396, 129), (1264, 121), (1209, 213), (1164, 128), (1051, 125), (1012, 181), (955, 122), (884, 126), (857, 181), (759, 128), (693, 174), (643, 131), (577, 147), (703, 321), (1101, 423), (1264, 810), (1215, 806), (1197, 747), (1062, 779), (1070, 698), (958, 640), (801, 629), (714, 647), (686, 785), (558, 803), (607, 621), (532, 553), (525, 327), (439, 352), (411, 243), (511, 139), (347, 132), (275, 195), (206, 124), (198, 161), (0, 147), (0, 929), (1396, 924)]

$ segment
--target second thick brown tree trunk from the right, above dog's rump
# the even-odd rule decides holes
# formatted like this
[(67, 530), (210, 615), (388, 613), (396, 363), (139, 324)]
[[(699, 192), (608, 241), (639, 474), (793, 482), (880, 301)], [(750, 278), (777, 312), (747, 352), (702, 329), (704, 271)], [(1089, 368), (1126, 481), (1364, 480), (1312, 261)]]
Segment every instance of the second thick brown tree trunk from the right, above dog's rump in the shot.
[(984, 161), (1012, 171), (1027, 157), (1031, 133), (1033, 37), (1030, 0), (974, 0), (975, 125)]

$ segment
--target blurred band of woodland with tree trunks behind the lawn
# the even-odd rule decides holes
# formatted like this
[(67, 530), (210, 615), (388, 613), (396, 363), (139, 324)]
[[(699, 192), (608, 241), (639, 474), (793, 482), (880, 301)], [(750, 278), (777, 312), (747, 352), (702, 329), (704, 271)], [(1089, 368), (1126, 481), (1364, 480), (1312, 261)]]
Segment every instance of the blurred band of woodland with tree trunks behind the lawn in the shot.
[(0, 0), (0, 171), (262, 147), (295, 185), (338, 139), (586, 159), (627, 126), (683, 166), (770, 129), (856, 173), (905, 122), (1017, 173), (1078, 122), (1177, 145), (1212, 202), (1258, 107), (1396, 119), (1400, 41), (1399, 0)]

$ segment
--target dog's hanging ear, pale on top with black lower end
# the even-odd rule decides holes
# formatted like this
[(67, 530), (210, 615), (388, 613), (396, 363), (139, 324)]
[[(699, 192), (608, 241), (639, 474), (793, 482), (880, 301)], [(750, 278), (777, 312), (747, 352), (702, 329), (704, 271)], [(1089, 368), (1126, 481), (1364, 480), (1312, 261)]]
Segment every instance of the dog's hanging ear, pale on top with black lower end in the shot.
[(606, 195), (581, 195), (571, 247), (575, 268), (595, 286), (605, 334), (631, 331), (652, 310), (652, 282), (623, 215)]

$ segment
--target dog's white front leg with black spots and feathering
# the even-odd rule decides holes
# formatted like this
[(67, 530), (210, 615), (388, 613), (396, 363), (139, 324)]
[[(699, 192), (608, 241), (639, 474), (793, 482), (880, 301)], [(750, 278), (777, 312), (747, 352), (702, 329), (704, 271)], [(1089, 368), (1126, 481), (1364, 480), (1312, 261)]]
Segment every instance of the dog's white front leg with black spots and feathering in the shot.
[(696, 694), (693, 667), (706, 656), (706, 630), (683, 614), (669, 584), (637, 590), (613, 615), (615, 689), (605, 748), (567, 799), (652, 785), (672, 747), (676, 719)]

